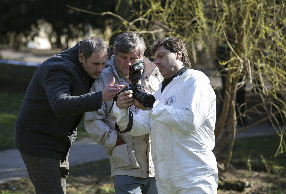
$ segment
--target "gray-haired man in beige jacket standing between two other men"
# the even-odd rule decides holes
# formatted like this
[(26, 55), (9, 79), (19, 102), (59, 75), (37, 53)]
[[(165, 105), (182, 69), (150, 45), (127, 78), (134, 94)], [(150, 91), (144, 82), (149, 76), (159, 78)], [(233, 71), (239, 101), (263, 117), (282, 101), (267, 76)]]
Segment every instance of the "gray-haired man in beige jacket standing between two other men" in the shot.
[[(119, 35), (115, 39), (110, 67), (103, 70), (90, 92), (102, 90), (114, 78), (114, 84), (130, 84), (129, 67), (143, 59), (145, 68), (139, 83), (142, 84), (143, 90), (154, 94), (163, 78), (154, 63), (143, 56), (145, 49), (144, 40), (140, 35), (134, 32)], [(96, 143), (106, 147), (116, 193), (156, 194), (150, 135), (134, 137), (114, 130), (116, 117), (112, 111), (108, 113), (111, 107), (112, 100), (102, 102), (102, 108), (98, 112), (86, 112), (84, 126)], [(134, 106), (130, 108), (135, 114), (139, 110)]]

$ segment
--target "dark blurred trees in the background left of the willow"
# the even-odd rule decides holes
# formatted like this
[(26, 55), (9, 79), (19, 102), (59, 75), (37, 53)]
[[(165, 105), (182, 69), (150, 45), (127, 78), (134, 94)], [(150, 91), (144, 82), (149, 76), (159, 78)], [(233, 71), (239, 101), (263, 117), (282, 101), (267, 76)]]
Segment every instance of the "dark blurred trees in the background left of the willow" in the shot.
[(0, 4), (0, 44), (17, 49), (35, 41), (35, 37), (45, 37), (51, 48), (67, 49), (82, 37), (105, 31), (102, 16), (69, 9), (67, 2), (71, 6), (96, 12), (114, 9), (114, 0), (104, 3), (92, 0), (3, 0)]

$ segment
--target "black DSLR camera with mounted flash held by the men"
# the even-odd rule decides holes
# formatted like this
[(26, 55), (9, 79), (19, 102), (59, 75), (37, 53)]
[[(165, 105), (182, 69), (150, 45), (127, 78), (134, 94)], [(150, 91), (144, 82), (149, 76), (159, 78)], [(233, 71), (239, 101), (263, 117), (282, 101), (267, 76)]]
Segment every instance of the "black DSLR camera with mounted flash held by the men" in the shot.
[(132, 90), (133, 98), (135, 98), (140, 104), (142, 104), (145, 108), (153, 108), (153, 103), (156, 101), (155, 97), (152, 94), (148, 94), (144, 92), (143, 86), (138, 84), (141, 78), (141, 70), (145, 68), (143, 59), (136, 61), (129, 67), (129, 80), (132, 82), (129, 84), (128, 88), (124, 88), (118, 94), (113, 97), (113, 100), (116, 101), (118, 95), (121, 92)]

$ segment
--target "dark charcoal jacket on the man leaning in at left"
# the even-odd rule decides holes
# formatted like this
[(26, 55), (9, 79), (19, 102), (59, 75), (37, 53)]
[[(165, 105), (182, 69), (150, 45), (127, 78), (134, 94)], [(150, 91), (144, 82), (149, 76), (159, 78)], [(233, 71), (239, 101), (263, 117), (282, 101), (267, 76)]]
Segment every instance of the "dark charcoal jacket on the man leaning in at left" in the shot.
[(44, 61), (33, 76), (15, 124), (15, 146), (33, 157), (62, 159), (82, 114), (101, 108), (101, 91), (79, 61), (80, 42)]

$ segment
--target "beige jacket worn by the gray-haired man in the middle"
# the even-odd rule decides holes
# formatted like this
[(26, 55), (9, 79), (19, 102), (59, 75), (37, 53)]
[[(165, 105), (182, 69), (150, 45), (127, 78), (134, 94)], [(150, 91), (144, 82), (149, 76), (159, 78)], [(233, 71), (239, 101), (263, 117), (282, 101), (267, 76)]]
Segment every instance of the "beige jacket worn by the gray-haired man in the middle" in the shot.
[[(159, 89), (159, 83), (163, 80), (158, 68), (146, 57), (143, 57), (145, 68), (141, 76), (143, 90), (154, 94)], [(128, 85), (116, 72), (114, 56), (111, 57), (111, 65), (105, 68), (100, 77), (92, 85), (90, 92), (100, 91), (107, 86), (112, 78), (114, 84)], [(106, 154), (110, 159), (111, 176), (128, 175), (134, 177), (154, 177), (154, 165), (151, 157), (150, 134), (143, 136), (131, 136), (114, 130), (116, 117), (111, 111), (112, 100), (102, 102), (102, 108), (98, 112), (86, 112), (84, 114), (84, 126), (86, 132), (94, 142), (106, 147)], [(135, 114), (138, 109), (130, 107)], [(115, 147), (117, 137), (123, 139), (123, 145)]]

